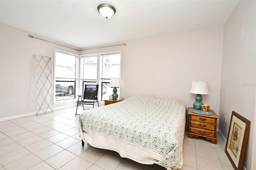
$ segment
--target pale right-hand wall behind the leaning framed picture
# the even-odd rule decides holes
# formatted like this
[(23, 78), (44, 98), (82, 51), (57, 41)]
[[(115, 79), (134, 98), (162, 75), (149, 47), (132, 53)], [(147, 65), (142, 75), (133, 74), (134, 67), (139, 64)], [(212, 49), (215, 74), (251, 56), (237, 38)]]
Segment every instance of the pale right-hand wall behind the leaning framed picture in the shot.
[[(232, 111), (251, 121), (244, 167), (251, 169), (256, 87), (256, 1), (241, 0), (224, 26), (219, 130), (228, 136)], [(224, 122), (224, 115), (227, 122)], [(255, 145), (255, 143), (254, 143)]]

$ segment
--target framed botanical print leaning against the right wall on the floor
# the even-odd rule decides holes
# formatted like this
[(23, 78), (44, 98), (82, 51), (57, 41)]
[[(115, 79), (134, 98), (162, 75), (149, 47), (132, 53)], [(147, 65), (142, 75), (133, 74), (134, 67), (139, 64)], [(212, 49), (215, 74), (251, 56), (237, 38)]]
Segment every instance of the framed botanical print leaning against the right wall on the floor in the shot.
[(236, 170), (242, 169), (250, 123), (249, 120), (232, 111), (225, 152)]

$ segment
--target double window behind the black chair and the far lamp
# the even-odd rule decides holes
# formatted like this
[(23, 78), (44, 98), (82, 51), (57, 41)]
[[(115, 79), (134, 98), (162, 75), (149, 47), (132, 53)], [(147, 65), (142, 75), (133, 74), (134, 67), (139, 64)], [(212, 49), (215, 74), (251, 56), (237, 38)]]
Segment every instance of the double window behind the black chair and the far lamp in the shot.
[[(81, 81), (84, 84), (99, 84), (98, 99), (103, 101), (113, 93), (108, 87), (111, 77), (120, 77), (120, 52), (81, 55)], [(120, 89), (118, 88), (118, 93)]]

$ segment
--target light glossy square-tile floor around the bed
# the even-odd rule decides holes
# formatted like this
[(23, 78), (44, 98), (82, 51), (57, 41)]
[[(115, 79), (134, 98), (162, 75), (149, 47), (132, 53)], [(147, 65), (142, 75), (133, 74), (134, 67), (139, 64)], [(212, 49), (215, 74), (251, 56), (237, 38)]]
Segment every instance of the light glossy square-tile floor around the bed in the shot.
[[(79, 112), (82, 112), (80, 107)], [(165, 170), (82, 146), (76, 107), (0, 122), (0, 170)], [(184, 137), (182, 170), (232, 170), (225, 143)]]

